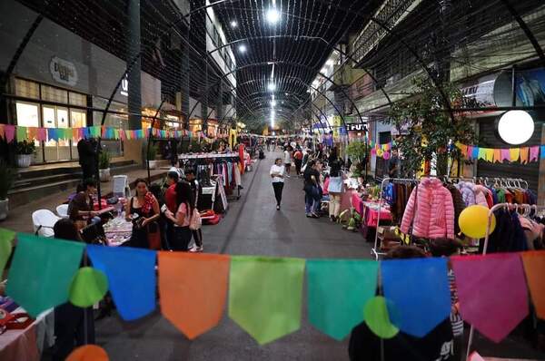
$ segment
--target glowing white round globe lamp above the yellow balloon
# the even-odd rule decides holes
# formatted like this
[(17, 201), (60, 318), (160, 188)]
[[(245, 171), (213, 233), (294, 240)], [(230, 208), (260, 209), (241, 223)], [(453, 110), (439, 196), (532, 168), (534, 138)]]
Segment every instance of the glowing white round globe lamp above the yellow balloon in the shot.
[(511, 145), (529, 141), (533, 131), (534, 122), (528, 112), (509, 111), (501, 115), (498, 122), (500, 138)]

